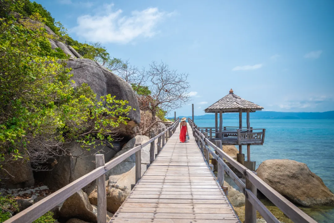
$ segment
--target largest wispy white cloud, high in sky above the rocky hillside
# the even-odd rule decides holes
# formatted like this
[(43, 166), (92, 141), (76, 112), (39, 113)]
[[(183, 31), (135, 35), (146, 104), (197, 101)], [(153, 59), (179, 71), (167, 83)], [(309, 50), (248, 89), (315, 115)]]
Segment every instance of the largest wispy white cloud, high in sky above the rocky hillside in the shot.
[(78, 17), (78, 25), (72, 29), (73, 32), (88, 41), (125, 44), (137, 37), (153, 37), (158, 33), (157, 24), (173, 14), (150, 7), (124, 16), (121, 9), (115, 11), (113, 6), (114, 4), (104, 5), (94, 15)]

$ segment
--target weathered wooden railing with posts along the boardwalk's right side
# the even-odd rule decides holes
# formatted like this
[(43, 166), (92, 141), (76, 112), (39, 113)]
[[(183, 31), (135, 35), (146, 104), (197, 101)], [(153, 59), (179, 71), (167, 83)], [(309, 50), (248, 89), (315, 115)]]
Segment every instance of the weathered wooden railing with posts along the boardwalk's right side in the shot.
[[(198, 127), (188, 119), (189, 126), (193, 130), (193, 136), (197, 142), (198, 147), (203, 152), (206, 162), (209, 165), (209, 153), (212, 154), (213, 159), (218, 162), (218, 174), (217, 181), (220, 186), (223, 186), (225, 173), (231, 177), (234, 183), (239, 187), (241, 192), (245, 195), (245, 223), (256, 223), (256, 211), (268, 223), (279, 223), (279, 220), (266, 208), (266, 206), (257, 198), (257, 190), (261, 191), (274, 205), (276, 205), (286, 216), (288, 216), (295, 223), (316, 223), (310, 216), (305, 214), (302, 210), (288, 201), (280, 193), (275, 191), (267, 183), (261, 180), (255, 172), (245, 168), (240, 163), (236, 162), (233, 158), (227, 155), (222, 150), (222, 143), (220, 140), (213, 144), (209, 138), (208, 133), (204, 133), (203, 128), (201, 131)], [(205, 128), (204, 128), (205, 129)], [(212, 149), (211, 149), (211, 148)], [(224, 159), (229, 162), (235, 169), (237, 169), (244, 178), (246, 184), (241, 181), (236, 174), (226, 165)]]

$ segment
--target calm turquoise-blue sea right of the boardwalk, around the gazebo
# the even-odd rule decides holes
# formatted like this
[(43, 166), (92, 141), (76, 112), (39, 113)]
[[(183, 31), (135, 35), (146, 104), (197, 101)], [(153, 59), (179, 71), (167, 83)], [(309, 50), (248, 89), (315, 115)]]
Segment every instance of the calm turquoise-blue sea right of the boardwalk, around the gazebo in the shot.
[[(199, 127), (214, 127), (213, 119), (194, 122)], [(256, 168), (269, 159), (296, 160), (307, 164), (334, 192), (333, 119), (251, 119), (250, 122), (254, 129), (266, 129), (264, 145), (251, 146), (251, 160), (256, 161)], [(239, 126), (239, 120), (223, 119), (223, 126)], [(317, 188), (310, 190), (316, 193)], [(334, 223), (334, 207), (300, 208), (319, 223)]]

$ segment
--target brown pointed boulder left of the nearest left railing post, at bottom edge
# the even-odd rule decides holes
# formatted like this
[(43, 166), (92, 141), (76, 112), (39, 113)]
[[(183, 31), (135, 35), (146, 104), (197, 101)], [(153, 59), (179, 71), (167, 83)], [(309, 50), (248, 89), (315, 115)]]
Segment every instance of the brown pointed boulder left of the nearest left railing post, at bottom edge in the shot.
[(63, 219), (78, 218), (83, 221), (96, 223), (97, 216), (93, 212), (93, 207), (89, 203), (88, 196), (79, 190), (67, 198), (59, 211), (59, 217)]

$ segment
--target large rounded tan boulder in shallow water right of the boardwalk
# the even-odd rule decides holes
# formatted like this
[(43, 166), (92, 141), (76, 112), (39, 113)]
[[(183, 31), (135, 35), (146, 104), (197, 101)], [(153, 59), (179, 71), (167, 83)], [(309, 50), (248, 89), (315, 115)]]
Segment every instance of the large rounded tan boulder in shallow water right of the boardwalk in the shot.
[(302, 206), (334, 205), (334, 194), (305, 163), (266, 160), (256, 170), (258, 177), (290, 201)]

